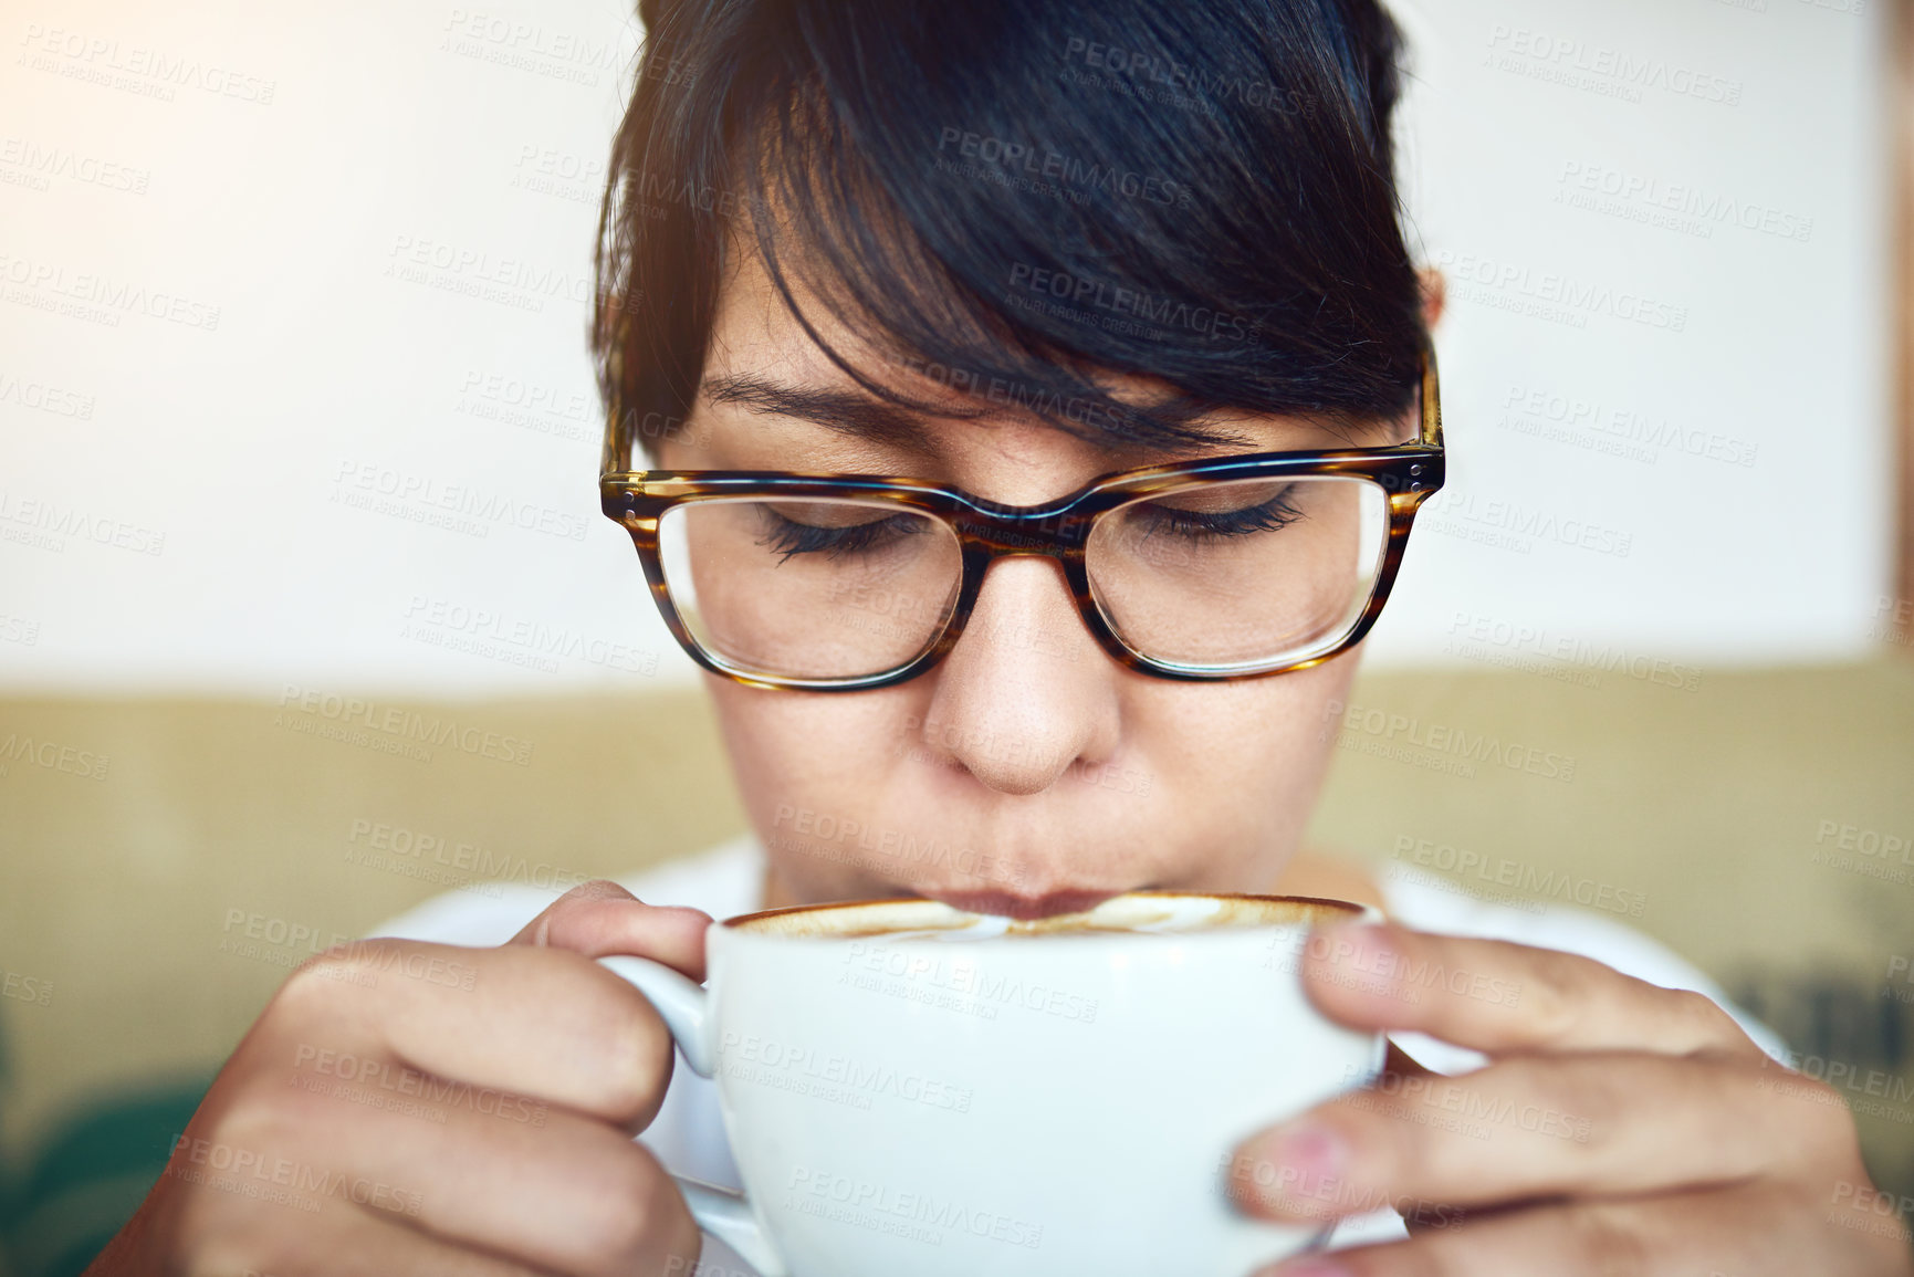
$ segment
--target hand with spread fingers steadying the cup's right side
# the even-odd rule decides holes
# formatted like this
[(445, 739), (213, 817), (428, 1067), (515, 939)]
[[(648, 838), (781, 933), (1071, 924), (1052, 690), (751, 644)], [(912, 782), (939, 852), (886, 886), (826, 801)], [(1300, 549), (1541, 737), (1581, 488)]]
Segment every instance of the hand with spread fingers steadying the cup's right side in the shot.
[(1839, 1091), (1782, 1068), (1700, 994), (1497, 940), (1353, 925), (1315, 938), (1311, 999), (1365, 1030), (1489, 1057), (1458, 1078), (1391, 1047), (1370, 1087), (1248, 1139), (1254, 1214), (1395, 1206), (1411, 1241), (1282, 1277), (1908, 1277)]

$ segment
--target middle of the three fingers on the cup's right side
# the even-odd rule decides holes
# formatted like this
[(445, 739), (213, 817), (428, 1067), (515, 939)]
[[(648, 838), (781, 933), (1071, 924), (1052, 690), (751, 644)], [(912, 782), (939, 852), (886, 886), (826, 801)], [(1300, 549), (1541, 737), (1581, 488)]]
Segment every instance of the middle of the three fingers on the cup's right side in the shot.
[(1384, 1078), (1246, 1141), (1231, 1185), (1254, 1214), (1324, 1220), (1397, 1199), (1629, 1197), (1834, 1164), (1845, 1110), (1778, 1095), (1778, 1072), (1627, 1053)]

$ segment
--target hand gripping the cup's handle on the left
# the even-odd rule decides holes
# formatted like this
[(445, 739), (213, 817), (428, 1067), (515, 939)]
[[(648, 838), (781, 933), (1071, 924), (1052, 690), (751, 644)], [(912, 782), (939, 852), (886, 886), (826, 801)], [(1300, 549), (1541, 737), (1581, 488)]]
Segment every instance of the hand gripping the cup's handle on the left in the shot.
[(672, 1038), (591, 959), (702, 978), (708, 925), (588, 883), (503, 948), (364, 940), (312, 959), (88, 1273), (689, 1273), (699, 1231), (632, 1139)]

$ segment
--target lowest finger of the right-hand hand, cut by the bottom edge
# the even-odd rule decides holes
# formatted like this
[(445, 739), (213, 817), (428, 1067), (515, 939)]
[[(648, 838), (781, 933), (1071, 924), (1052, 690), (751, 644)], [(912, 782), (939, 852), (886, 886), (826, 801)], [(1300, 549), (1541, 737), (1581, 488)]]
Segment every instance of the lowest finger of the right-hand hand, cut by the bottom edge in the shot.
[[(1807, 1206), (1807, 1208), (1805, 1208)], [(1795, 1277), (1889, 1273), (1818, 1202), (1767, 1187), (1638, 1202), (1545, 1204), (1451, 1220), (1413, 1241), (1290, 1260), (1257, 1277)], [(1837, 1256), (1853, 1262), (1841, 1264)], [(1872, 1258), (1868, 1258), (1872, 1256)]]

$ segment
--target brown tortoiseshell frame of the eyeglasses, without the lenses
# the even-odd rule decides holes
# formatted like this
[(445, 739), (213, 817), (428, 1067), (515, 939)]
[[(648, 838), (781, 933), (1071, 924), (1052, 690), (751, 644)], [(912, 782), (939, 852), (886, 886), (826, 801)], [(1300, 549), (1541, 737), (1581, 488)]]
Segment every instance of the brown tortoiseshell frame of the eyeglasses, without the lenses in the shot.
[[(972, 496), (963, 488), (928, 479), (896, 479), (886, 475), (800, 475), (792, 471), (632, 471), (612, 469), (630, 463), (630, 421), (612, 419), (605, 429), (603, 473), (599, 475), (599, 504), (605, 517), (624, 526), (637, 548), (651, 597), (664, 616), (678, 645), (699, 666), (748, 687), (781, 691), (873, 691), (909, 682), (936, 666), (963, 638), (965, 624), (984, 590), (984, 572), (1001, 557), (1041, 555), (1055, 559), (1070, 584), (1078, 615), (1091, 638), (1118, 664), (1139, 674), (1177, 682), (1235, 682), (1246, 678), (1275, 678), (1323, 664), (1361, 643), (1390, 599), (1409, 530), (1416, 511), (1443, 486), (1445, 454), (1441, 435), (1441, 381), (1436, 371), (1436, 350), (1422, 350), (1422, 425), (1411, 444), (1382, 448), (1328, 448), (1290, 452), (1252, 452), (1221, 458), (1198, 458), (1169, 465), (1146, 465), (1112, 471), (1091, 479), (1076, 492), (1037, 505), (1007, 505)], [(1284, 475), (1357, 477), (1376, 482), (1390, 502), (1388, 542), (1382, 569), (1370, 588), (1369, 603), (1349, 632), (1328, 651), (1302, 661), (1254, 670), (1196, 670), (1139, 653), (1110, 626), (1089, 584), (1085, 549), (1091, 528), (1104, 513), (1127, 505), (1152, 492), (1187, 490), (1187, 481), (1244, 481)], [(668, 511), (691, 502), (712, 498), (792, 498), (792, 500), (875, 500), (900, 509), (928, 515), (944, 523), (961, 549), (961, 580), (951, 615), (942, 632), (917, 657), (880, 674), (854, 678), (785, 678), (727, 664), (704, 651), (691, 634), (664, 578), (664, 557), (658, 551), (658, 523)]]

